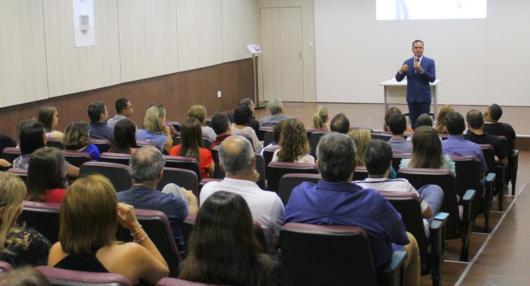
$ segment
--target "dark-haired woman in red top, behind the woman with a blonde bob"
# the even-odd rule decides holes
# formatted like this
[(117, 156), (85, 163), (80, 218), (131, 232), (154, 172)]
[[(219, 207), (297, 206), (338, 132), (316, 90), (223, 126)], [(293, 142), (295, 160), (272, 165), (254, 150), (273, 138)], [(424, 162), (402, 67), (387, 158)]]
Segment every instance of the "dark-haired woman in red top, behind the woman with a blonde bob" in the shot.
[(29, 157), (27, 200), (61, 203), (68, 187), (66, 159), (57, 148), (41, 148)]

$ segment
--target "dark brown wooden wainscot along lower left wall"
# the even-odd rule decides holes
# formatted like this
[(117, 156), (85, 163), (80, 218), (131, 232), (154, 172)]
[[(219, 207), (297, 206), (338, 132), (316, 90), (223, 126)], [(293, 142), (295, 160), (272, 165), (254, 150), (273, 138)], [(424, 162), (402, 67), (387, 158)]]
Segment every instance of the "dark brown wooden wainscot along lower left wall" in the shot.
[[(222, 92), (217, 98), (217, 91)], [(252, 60), (209, 66), (156, 78), (122, 83), (98, 90), (78, 92), (52, 99), (24, 103), (0, 108), (0, 133), (15, 138), (17, 122), (36, 117), (41, 106), (55, 106), (59, 113), (59, 126), (64, 130), (73, 120), (89, 121), (87, 106), (96, 100), (106, 101), (108, 114), (114, 117), (114, 102), (120, 97), (128, 98), (134, 106), (131, 117), (141, 127), (145, 110), (153, 102), (166, 106), (168, 120), (182, 121), (193, 104), (201, 104), (208, 110), (208, 116), (233, 110), (245, 97), (252, 97)]]

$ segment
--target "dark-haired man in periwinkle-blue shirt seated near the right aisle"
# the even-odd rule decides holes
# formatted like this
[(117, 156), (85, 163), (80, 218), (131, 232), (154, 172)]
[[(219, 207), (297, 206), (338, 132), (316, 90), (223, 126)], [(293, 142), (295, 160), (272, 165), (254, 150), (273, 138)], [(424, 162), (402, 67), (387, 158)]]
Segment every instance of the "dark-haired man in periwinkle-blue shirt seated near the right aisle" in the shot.
[[(486, 159), (482, 154), (480, 146), (464, 139), (466, 123), (464, 116), (453, 111), (445, 117), (445, 127), (449, 132), (449, 138), (442, 142), (442, 152), (446, 155), (471, 155), (477, 159), (479, 177), (482, 179), (487, 172)], [(413, 141), (415, 144), (416, 141)], [(482, 182), (484, 183), (484, 182)]]

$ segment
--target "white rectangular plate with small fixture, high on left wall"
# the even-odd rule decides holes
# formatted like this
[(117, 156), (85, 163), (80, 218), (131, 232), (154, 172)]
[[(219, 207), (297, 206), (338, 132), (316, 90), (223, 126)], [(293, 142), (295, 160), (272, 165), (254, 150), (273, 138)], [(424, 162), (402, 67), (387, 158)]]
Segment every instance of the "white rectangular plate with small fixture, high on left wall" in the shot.
[[(96, 45), (96, 29), (94, 29), (94, 1), (93, 0), (72, 0), (73, 8), (73, 36), (76, 48)], [(81, 31), (79, 15), (88, 15), (89, 29)]]

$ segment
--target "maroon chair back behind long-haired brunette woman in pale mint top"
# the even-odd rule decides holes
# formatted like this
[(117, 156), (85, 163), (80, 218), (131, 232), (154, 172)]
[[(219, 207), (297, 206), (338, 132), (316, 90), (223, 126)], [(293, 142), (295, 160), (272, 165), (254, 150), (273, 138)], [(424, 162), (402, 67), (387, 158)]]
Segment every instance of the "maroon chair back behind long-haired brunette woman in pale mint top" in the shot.
[(424, 185), (438, 185), (443, 190), (440, 211), (449, 213), (445, 224), (445, 238), (461, 237), (457, 190), (451, 171), (445, 169), (401, 168), (397, 178), (405, 178), (416, 190)]

